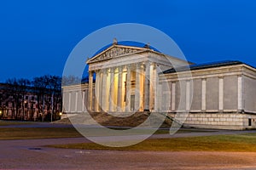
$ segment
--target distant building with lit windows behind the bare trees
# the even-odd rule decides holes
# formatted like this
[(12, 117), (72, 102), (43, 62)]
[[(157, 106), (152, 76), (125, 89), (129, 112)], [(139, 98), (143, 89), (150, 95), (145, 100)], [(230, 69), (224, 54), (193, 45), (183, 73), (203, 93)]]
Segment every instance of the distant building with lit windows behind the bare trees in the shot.
[(43, 98), (32, 87), (26, 87), (21, 92), (9, 84), (0, 84), (0, 119), (50, 121), (52, 111), (53, 120), (61, 118), (61, 95), (55, 95), (52, 100), (50, 93), (45, 93)]

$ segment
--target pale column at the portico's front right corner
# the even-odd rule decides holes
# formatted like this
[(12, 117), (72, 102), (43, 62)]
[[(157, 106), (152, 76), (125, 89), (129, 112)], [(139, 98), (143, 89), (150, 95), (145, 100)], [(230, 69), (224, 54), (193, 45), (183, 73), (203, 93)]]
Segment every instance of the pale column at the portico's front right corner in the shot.
[(149, 84), (150, 84), (150, 68), (149, 63), (145, 65), (145, 82), (144, 82), (144, 111), (149, 111)]

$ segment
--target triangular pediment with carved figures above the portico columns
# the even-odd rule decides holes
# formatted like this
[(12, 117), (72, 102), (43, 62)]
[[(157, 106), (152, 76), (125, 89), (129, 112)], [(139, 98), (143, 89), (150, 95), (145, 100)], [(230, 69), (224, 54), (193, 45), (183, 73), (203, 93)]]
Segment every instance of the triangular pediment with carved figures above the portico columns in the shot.
[(137, 48), (137, 47), (131, 47), (131, 46), (123, 46), (123, 45), (113, 45), (104, 51), (102, 51), (100, 54), (96, 54), (91, 59), (87, 60), (87, 64), (100, 62), (103, 60), (113, 59), (116, 57), (119, 57), (121, 55), (125, 54), (134, 54), (140, 51), (145, 50), (145, 48)]

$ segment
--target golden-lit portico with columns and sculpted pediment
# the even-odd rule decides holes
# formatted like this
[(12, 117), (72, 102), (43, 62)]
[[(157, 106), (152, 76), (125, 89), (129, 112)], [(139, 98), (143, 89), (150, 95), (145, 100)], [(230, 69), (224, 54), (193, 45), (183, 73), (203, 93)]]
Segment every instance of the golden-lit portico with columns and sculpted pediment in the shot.
[[(127, 48), (113, 44), (89, 59), (88, 110), (154, 111), (156, 66), (161, 63), (151, 59), (153, 55), (154, 51), (150, 48)], [(160, 61), (164, 62), (164, 59)], [(92, 88), (93, 77), (96, 77), (95, 92)]]

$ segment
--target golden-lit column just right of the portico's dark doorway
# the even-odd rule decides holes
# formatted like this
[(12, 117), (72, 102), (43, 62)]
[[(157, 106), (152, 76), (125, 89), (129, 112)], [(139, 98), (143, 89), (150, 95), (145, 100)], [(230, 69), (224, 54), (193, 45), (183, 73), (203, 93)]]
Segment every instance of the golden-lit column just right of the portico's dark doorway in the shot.
[(136, 111), (143, 111), (143, 92), (142, 92), (142, 74), (143, 74), (143, 65), (137, 64), (137, 71), (136, 71), (136, 89), (135, 89), (135, 110)]

